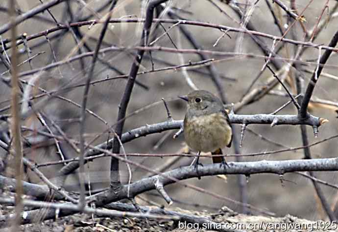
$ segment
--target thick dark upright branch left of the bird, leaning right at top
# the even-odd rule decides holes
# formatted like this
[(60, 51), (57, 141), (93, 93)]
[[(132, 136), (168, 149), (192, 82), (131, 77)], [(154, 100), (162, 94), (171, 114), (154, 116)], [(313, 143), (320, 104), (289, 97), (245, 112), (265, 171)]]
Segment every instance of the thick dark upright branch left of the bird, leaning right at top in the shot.
[[(148, 3), (147, 9), (146, 9), (146, 16), (145, 16), (145, 25), (143, 27), (142, 31), (142, 37), (140, 40), (140, 46), (146, 46), (148, 42), (148, 37), (149, 37), (149, 32), (150, 32), (150, 27), (152, 24), (152, 20), (154, 17), (154, 8), (165, 2), (167, 0), (151, 0)], [(129, 77), (127, 84), (125, 86), (121, 103), (119, 105), (119, 113), (118, 113), (118, 123), (116, 126), (116, 133), (117, 135), (121, 138), (123, 126), (124, 126), (124, 117), (125, 113), (127, 110), (128, 103), (130, 101), (130, 95), (131, 91), (133, 90), (135, 79), (137, 72), (139, 70), (139, 65), (142, 61), (144, 51), (139, 50), (134, 58), (134, 62), (131, 65), (130, 72), (129, 72)], [(113, 142), (113, 153), (120, 153), (120, 143), (117, 139), (114, 139)], [(119, 174), (119, 160), (116, 159), (115, 157), (111, 158), (111, 167), (110, 167), (110, 183), (111, 186), (119, 186), (121, 185), (120, 181), (120, 174)]]

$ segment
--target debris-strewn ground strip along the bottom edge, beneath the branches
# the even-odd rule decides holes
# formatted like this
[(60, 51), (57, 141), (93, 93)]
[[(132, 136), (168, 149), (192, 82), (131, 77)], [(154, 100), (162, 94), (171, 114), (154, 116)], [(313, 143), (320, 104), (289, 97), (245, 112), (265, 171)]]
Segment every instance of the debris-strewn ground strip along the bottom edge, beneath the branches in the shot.
[[(207, 217), (216, 223), (228, 223), (229, 230), (241, 230), (247, 232), (332, 232), (335, 225), (329, 225), (326, 222), (314, 222), (305, 219), (299, 219), (295, 216), (286, 215), (285, 217), (265, 217), (248, 216), (234, 212), (219, 211), (210, 213), (208, 211), (186, 211), (178, 208), (175, 211), (181, 213), (190, 213), (197, 216)], [(217, 224), (220, 227), (220, 224)], [(326, 226), (325, 226), (326, 225)], [(289, 228), (289, 229), (287, 229)], [(1, 230), (0, 230), (1, 231)], [(189, 224), (187, 222), (174, 222), (171, 220), (160, 219), (140, 219), (140, 218), (95, 218), (94, 221), (90, 215), (74, 214), (57, 220), (48, 220), (42, 224), (32, 224), (21, 226), (23, 232), (211, 232), (208, 224)], [(1, 231), (4, 232), (4, 231)]]

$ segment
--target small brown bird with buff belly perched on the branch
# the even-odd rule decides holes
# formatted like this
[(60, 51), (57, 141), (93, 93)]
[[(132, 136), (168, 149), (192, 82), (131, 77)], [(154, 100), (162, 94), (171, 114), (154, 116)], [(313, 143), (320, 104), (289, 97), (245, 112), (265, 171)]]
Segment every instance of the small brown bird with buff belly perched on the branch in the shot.
[[(187, 96), (179, 98), (188, 102), (184, 118), (184, 137), (188, 146), (198, 151), (195, 167), (201, 151), (223, 154), (221, 148), (230, 148), (232, 128), (229, 116), (222, 102), (214, 94), (206, 90), (195, 90)], [(213, 163), (220, 163), (225, 168), (224, 157), (213, 157)]]

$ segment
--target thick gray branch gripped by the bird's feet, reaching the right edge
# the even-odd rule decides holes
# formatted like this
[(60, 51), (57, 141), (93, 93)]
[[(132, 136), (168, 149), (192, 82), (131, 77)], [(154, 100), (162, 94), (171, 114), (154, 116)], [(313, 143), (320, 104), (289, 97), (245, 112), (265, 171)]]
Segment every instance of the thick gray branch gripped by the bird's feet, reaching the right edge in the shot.
[[(136, 196), (145, 191), (154, 190), (154, 182), (158, 179), (163, 186), (175, 183), (177, 180), (186, 180), (198, 176), (220, 174), (244, 174), (276, 173), (282, 175), (294, 171), (338, 171), (338, 158), (311, 159), (311, 160), (285, 160), (285, 161), (257, 161), (257, 162), (228, 162), (229, 167), (224, 169), (218, 164), (198, 167), (198, 174), (194, 167), (182, 167), (173, 169), (149, 178), (144, 178), (129, 186), (129, 196)], [(181, 183), (181, 182), (179, 182)], [(185, 185), (184, 183), (181, 183)], [(122, 190), (114, 192), (106, 190), (94, 197), (98, 207), (118, 201), (127, 197), (127, 185)]]

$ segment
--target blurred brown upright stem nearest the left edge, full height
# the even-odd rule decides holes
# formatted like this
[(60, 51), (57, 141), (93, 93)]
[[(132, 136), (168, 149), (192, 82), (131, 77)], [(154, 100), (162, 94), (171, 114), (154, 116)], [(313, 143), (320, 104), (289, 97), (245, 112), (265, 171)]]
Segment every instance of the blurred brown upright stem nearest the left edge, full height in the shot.
[(16, 175), (16, 198), (15, 198), (15, 212), (16, 217), (13, 222), (12, 231), (19, 231), (19, 225), (21, 222), (21, 211), (23, 211), (22, 204), (22, 194), (23, 194), (23, 186), (22, 186), (22, 144), (21, 144), (21, 131), (20, 131), (20, 110), (19, 110), (19, 96), (20, 96), (20, 88), (19, 88), (19, 78), (18, 78), (18, 70), (17, 70), (17, 47), (16, 47), (16, 35), (17, 35), (17, 27), (15, 23), (15, 0), (8, 0), (9, 8), (10, 8), (10, 17), (11, 17), (11, 37), (12, 37), (12, 59), (11, 59), (11, 74), (12, 74), (12, 137), (14, 142), (14, 152), (15, 156), (15, 169), (17, 170)]

